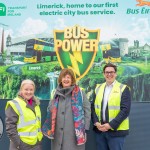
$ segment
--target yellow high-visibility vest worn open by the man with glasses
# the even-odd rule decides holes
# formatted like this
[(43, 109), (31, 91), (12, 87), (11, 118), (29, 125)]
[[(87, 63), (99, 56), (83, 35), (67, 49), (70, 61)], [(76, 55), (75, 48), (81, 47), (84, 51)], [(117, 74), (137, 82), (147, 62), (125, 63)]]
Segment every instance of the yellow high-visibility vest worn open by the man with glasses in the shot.
[[(105, 90), (106, 83), (101, 85), (97, 85), (95, 89), (96, 99), (95, 99), (95, 113), (98, 116), (99, 122), (101, 122), (101, 104), (103, 100), (103, 94)], [(120, 103), (121, 103), (121, 95), (126, 85), (121, 84), (119, 82), (115, 82), (111, 93), (108, 99), (108, 115), (109, 122), (113, 120), (118, 113), (120, 112)], [(127, 117), (117, 128), (117, 130), (128, 130), (129, 129), (129, 118)], [(113, 130), (113, 129), (112, 129)]]

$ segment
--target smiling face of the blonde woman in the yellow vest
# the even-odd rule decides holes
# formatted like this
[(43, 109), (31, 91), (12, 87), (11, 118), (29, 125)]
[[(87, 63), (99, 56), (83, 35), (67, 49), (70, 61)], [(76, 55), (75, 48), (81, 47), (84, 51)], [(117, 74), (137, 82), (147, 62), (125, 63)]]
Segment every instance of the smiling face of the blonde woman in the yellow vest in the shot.
[(33, 84), (30, 84), (30, 83), (23, 84), (20, 90), (21, 95), (26, 100), (29, 100), (34, 96), (34, 91), (35, 91), (34, 86)]

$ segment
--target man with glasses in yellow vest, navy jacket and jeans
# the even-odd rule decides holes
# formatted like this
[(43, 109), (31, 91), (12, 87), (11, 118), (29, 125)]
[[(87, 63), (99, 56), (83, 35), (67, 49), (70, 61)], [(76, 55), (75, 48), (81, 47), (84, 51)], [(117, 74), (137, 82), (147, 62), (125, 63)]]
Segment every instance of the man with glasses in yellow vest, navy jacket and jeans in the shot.
[(129, 133), (130, 89), (116, 80), (117, 67), (103, 68), (106, 82), (97, 85), (91, 103), (97, 150), (123, 150)]

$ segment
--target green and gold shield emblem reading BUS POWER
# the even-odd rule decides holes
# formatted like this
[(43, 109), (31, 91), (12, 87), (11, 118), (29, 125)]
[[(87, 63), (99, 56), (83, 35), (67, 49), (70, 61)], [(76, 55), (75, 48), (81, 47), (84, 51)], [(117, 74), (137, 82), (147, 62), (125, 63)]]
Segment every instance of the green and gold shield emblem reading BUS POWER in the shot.
[(61, 68), (70, 68), (77, 80), (90, 70), (98, 51), (100, 30), (78, 25), (54, 30), (54, 48)]

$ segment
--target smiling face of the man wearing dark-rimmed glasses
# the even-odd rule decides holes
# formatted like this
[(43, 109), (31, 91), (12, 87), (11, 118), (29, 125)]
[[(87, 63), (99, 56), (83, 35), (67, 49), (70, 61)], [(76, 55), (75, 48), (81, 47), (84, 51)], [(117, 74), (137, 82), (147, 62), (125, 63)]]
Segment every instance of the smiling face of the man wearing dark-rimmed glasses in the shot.
[(108, 85), (112, 84), (116, 79), (116, 71), (113, 67), (106, 67), (104, 70), (104, 77)]

